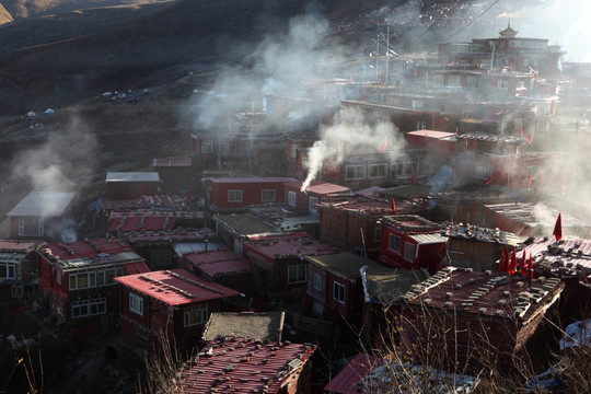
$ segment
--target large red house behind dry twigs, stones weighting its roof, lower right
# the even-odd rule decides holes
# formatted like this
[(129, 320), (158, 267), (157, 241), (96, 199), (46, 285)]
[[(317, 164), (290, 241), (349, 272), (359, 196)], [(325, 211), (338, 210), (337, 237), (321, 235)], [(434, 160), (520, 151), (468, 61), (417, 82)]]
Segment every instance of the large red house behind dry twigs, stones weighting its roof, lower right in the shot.
[(402, 355), (463, 373), (495, 366), (509, 372), (520, 356), (547, 360), (546, 340), (556, 340), (547, 337), (548, 328), (556, 324), (552, 317), (564, 283), (525, 283), (521, 276), (442, 269), (402, 297)]

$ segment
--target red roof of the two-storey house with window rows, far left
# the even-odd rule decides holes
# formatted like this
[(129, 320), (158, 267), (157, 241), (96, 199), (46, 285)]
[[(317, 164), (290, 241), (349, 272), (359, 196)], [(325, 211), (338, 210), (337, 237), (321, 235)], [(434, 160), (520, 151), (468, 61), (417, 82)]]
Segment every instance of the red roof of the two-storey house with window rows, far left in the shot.
[(131, 251), (131, 246), (120, 240), (97, 239), (89, 241), (77, 241), (69, 244), (57, 243), (44, 246), (49, 250), (55, 257), (62, 260), (92, 257), (97, 254), (116, 254)]

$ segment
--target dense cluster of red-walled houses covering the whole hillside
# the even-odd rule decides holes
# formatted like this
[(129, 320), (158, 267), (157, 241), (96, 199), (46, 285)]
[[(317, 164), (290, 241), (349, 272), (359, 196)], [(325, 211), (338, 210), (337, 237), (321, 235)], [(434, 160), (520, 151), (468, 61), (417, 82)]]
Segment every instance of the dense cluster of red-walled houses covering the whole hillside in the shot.
[[(514, 38), (503, 32), (500, 42)], [(517, 68), (497, 77), (533, 85)], [(484, 81), (482, 71), (440, 71), (467, 72), (466, 90)], [(376, 90), (357, 88), (360, 96)], [(2, 294), (34, 301), (76, 340), (116, 332), (154, 357), (166, 344), (198, 348), (182, 372), (187, 393), (372, 392), (409, 368), (437, 368), (449, 380), (455, 366), (476, 374), (511, 370), (515, 355), (545, 360), (540, 344), (558, 346), (555, 327), (589, 314), (591, 282), (591, 224), (520, 194), (554, 176), (552, 155), (530, 147), (537, 125), (548, 129), (556, 99), (482, 106), (480, 120), (462, 120), (478, 132), (459, 135), (449, 130), (453, 114), (378, 90), (379, 104), (344, 100), (339, 108), (391, 116), (405, 154), (385, 144), (336, 148), (339, 160), (326, 158), (310, 184), (305, 158), (318, 137), (274, 129), (298, 103), (266, 97), (267, 113), (236, 115), (229, 132), (193, 135), (190, 154), (153, 159), (150, 172), (107, 173), (96, 224), (104, 237), (65, 242), (76, 195), (32, 192), (0, 229)], [(436, 97), (424, 95), (421, 106), (427, 100)], [(324, 125), (338, 108), (326, 111)], [(416, 130), (425, 123), (433, 129)], [(453, 176), (437, 190), (427, 183), (442, 164)], [(466, 183), (479, 187), (451, 188)], [(318, 382), (310, 362), (317, 345), (290, 343), (285, 332), (336, 340), (355, 333), (375, 351), (351, 355)], [(407, 364), (383, 359), (392, 344)], [(487, 366), (485, 352), (494, 355)], [(452, 379), (466, 392), (478, 384), (468, 374)]]

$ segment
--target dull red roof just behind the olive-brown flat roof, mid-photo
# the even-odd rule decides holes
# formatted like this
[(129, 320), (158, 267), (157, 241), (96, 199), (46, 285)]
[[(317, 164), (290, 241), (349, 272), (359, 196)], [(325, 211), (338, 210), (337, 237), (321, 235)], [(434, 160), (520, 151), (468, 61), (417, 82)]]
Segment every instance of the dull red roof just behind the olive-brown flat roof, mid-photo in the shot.
[(305, 232), (297, 232), (285, 235), (263, 235), (248, 237), (250, 241), (244, 243), (244, 248), (247, 251), (260, 254), (267, 259), (298, 257), (300, 255), (320, 255), (340, 253), (324, 244)]

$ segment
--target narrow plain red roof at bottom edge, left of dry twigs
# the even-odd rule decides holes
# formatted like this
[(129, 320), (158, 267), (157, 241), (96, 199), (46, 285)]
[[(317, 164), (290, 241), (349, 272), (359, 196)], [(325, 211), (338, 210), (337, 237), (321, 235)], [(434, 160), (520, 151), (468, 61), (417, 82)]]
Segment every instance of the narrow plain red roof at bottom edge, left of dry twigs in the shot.
[(324, 391), (340, 394), (359, 394), (357, 383), (368, 375), (382, 358), (359, 354), (335, 378), (324, 386)]

